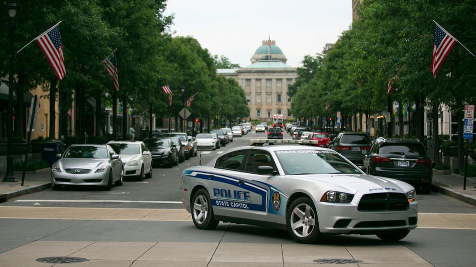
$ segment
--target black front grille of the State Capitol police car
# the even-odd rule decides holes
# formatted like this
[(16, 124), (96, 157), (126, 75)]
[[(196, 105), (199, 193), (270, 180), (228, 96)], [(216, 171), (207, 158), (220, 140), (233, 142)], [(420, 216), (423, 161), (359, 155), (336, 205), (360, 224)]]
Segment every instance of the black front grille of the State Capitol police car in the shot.
[(407, 210), (408, 198), (404, 193), (364, 194), (360, 199), (359, 211), (394, 211)]

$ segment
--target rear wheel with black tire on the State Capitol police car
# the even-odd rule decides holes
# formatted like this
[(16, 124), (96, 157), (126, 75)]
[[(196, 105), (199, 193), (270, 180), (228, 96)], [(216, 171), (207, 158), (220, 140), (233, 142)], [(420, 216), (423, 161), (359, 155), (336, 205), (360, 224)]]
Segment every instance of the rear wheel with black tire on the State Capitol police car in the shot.
[[(199, 205), (201, 204), (201, 209), (194, 208), (195, 202)], [(213, 207), (211, 205), (210, 195), (205, 189), (198, 189), (195, 194), (193, 194), (190, 208), (192, 211), (193, 224), (195, 224), (198, 229), (212, 230), (218, 225), (218, 222), (220, 222), (213, 218)]]

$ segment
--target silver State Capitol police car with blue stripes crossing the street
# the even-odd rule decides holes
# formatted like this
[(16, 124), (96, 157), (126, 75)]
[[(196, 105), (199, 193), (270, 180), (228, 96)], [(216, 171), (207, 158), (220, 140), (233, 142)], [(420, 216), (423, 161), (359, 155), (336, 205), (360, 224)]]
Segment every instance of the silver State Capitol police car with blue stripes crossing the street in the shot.
[(367, 175), (331, 149), (294, 145), (316, 140), (251, 142), (183, 171), (181, 198), (197, 228), (219, 221), (271, 226), (302, 243), (323, 234), (400, 240), (416, 228), (410, 184)]

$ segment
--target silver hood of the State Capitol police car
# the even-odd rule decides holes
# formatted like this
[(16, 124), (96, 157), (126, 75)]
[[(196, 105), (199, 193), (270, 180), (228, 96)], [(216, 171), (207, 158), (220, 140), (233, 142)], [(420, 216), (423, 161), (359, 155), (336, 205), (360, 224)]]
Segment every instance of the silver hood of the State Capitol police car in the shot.
[[(303, 174), (295, 175), (295, 178), (317, 183), (320, 186), (328, 186), (328, 190), (336, 190), (346, 193), (356, 193), (360, 190), (369, 191), (395, 191), (408, 192), (413, 187), (395, 179), (372, 176), (367, 174)], [(414, 189), (414, 188), (413, 188)]]

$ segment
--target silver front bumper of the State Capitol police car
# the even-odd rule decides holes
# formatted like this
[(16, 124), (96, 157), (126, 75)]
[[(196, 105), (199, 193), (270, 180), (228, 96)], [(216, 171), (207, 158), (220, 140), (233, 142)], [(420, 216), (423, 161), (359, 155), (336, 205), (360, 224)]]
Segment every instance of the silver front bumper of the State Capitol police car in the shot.
[(416, 201), (402, 211), (358, 211), (357, 205), (316, 201), (319, 230), (323, 233), (377, 234), (417, 226)]

